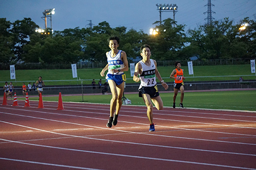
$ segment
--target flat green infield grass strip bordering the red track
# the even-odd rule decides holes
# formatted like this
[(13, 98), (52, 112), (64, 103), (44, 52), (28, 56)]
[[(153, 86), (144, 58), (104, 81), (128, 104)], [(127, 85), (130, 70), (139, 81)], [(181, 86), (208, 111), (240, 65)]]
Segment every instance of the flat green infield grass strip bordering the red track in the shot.
[[(132, 105), (145, 106), (138, 94), (124, 94), (132, 100)], [(172, 107), (173, 93), (161, 93), (164, 106)], [(84, 101), (99, 104), (109, 104), (112, 95), (84, 95)], [(30, 100), (38, 100), (30, 98)], [(58, 97), (43, 97), (44, 101), (58, 101)], [(180, 93), (176, 99), (176, 106), (180, 100)], [(81, 102), (82, 96), (63, 96), (63, 101)], [(184, 107), (232, 109), (256, 111), (256, 91), (221, 91), (221, 92), (185, 92)], [(56, 105), (57, 106), (57, 105)], [(65, 104), (64, 104), (65, 108)]]

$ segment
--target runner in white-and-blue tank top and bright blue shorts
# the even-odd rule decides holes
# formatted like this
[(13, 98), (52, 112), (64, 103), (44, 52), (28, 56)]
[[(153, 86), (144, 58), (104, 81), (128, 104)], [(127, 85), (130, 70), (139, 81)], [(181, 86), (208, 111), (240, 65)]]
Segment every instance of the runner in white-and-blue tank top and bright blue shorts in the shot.
[(108, 64), (102, 69), (100, 75), (105, 76), (105, 71), (108, 70), (106, 79), (112, 93), (110, 101), (110, 116), (107, 127), (111, 128), (112, 124), (117, 124), (117, 117), (122, 106), (122, 95), (124, 90), (124, 81), (126, 75), (123, 71), (128, 71), (128, 61), (126, 53), (117, 49), (119, 47), (119, 38), (112, 36), (108, 39), (108, 47), (111, 49), (106, 53)]

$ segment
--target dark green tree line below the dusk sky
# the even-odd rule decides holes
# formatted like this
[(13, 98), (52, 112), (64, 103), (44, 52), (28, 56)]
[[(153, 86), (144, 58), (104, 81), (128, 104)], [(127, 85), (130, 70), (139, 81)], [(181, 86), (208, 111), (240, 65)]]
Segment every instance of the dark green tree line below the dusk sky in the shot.
[[(128, 60), (140, 56), (140, 47), (148, 44), (155, 60), (199, 60), (256, 57), (256, 21), (244, 18), (239, 24), (224, 18), (211, 25), (201, 25), (185, 32), (185, 25), (173, 27), (174, 20), (154, 23), (157, 34), (149, 35), (120, 26), (112, 28), (103, 21), (93, 28), (68, 28), (36, 32), (39, 26), (31, 18), (14, 23), (0, 18), (0, 62), (76, 63), (78, 61), (106, 61), (109, 36), (119, 36), (119, 49), (126, 51)], [(241, 24), (245, 29), (239, 29)]]

